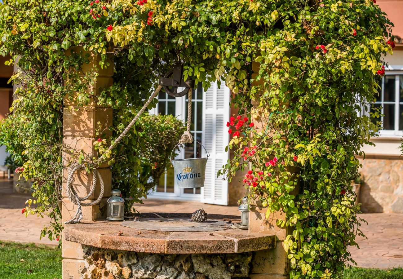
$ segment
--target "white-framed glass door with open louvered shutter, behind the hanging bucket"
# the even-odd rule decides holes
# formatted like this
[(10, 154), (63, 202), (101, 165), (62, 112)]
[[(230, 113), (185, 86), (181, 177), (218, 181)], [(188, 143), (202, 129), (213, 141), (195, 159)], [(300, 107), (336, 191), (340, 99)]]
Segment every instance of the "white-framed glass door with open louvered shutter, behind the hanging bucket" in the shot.
[[(229, 155), (225, 152), (225, 146), (229, 142), (229, 134), (226, 131), (226, 121), (230, 113), (230, 90), (217, 83), (204, 92), (199, 84), (192, 94), (192, 122), (191, 133), (194, 140), (202, 143), (210, 153), (206, 165), (206, 179), (202, 188), (179, 189), (174, 179), (174, 170), (168, 167), (160, 177), (160, 181), (150, 193), (150, 198), (199, 200), (212, 204), (228, 204), (228, 181), (217, 178), (216, 174), (222, 165), (226, 164)], [(150, 110), (154, 114), (175, 115), (178, 119), (187, 120), (187, 96), (174, 98), (160, 92), (156, 108)], [(178, 139), (179, 140), (179, 139)], [(181, 150), (177, 159), (200, 158), (207, 156), (206, 152), (195, 141), (186, 144), (185, 150)]]

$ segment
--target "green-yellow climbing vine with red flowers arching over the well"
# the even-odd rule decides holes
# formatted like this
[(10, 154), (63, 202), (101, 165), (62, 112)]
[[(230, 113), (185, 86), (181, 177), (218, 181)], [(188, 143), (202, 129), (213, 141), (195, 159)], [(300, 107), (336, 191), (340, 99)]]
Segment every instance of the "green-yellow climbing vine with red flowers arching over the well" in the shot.
[[(358, 112), (374, 101), (382, 54), (394, 46), (391, 23), (374, 2), (5, 0), (0, 53), (11, 55), (7, 63), (19, 67), (12, 81), (23, 84), (8, 127), (19, 135), (16, 153), (27, 156), (22, 175), (40, 181), (33, 201), (41, 206), (25, 214), (52, 208), (60, 224), (61, 154), (69, 151), (62, 144), (64, 98), (112, 107), (112, 127), (99, 128), (110, 143), (158, 77), (181, 62), (185, 79), (205, 89), (225, 82), (233, 91), (239, 115), (228, 127), (235, 156), (218, 175), (231, 179), (247, 170), (242, 183), (253, 202), (268, 208), (266, 217), (286, 213), (277, 225), (293, 228), (284, 242), (291, 277), (338, 277), (360, 233), (349, 182), (360, 166), (355, 156), (379, 126)], [(80, 77), (70, 69), (88, 56), (69, 50), (75, 46), (101, 58)], [(111, 56), (114, 84), (86, 93)], [(104, 136), (106, 129), (112, 136)], [(108, 155), (118, 186), (126, 166), (141, 172), (140, 156), (128, 156), (139, 148), (133, 129), (124, 148)], [(144, 184), (131, 177), (136, 190), (127, 194), (139, 199)]]

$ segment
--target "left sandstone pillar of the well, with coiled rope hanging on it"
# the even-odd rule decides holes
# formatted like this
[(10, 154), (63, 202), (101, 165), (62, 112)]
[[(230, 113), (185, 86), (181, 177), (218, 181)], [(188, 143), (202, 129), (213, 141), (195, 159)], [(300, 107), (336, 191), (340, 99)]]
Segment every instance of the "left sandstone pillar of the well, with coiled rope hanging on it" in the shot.
[[(93, 85), (87, 86), (87, 92), (96, 96), (103, 88), (113, 85), (113, 62), (110, 61), (108, 68), (100, 69), (100, 57), (97, 54), (85, 52), (82, 48), (73, 48), (76, 52), (83, 52), (83, 55), (90, 54), (89, 64), (85, 64), (79, 71), (79, 76), (84, 77), (85, 73), (93, 75)], [(69, 55), (72, 50), (67, 50), (66, 55)], [(95, 71), (97, 67), (99, 70)], [(93, 74), (92, 74), (93, 73)], [(96, 75), (97, 74), (97, 75)], [(65, 81), (68, 84), (68, 81)], [(96, 105), (96, 101), (91, 98), (91, 101), (85, 106), (77, 106), (77, 95), (65, 96), (64, 98), (64, 115), (63, 115), (63, 144), (67, 153), (63, 154), (63, 164), (68, 166), (70, 162), (78, 160), (75, 155), (82, 152), (86, 157), (92, 158), (96, 154), (93, 148), (93, 142), (98, 137), (106, 138), (110, 136), (110, 132), (96, 135), (96, 130), (102, 126), (103, 129), (112, 125), (112, 108), (100, 107)], [(107, 130), (105, 130), (107, 131)], [(74, 150), (73, 154), (70, 152)], [(112, 187), (112, 174), (110, 167), (107, 163), (103, 163), (98, 171), (104, 180), (104, 195), (99, 204), (94, 206), (82, 207), (83, 222), (90, 222), (97, 219), (106, 218), (106, 200), (110, 196)], [(66, 181), (68, 175), (68, 168), (63, 169), (63, 182), (62, 182), (62, 221), (72, 219), (77, 210), (77, 206), (73, 204), (67, 197)], [(75, 173), (73, 187), (76, 189), (80, 197), (88, 194), (92, 184), (92, 174), (86, 173), (85, 170), (79, 170)], [(85, 202), (92, 202), (96, 200), (100, 193), (100, 184), (96, 186), (96, 191)], [(65, 225), (68, 226), (68, 225)], [(82, 258), (83, 249), (81, 244), (69, 242), (64, 239), (62, 244), (62, 271), (63, 279), (79, 279), (81, 278), (81, 271), (85, 268), (85, 263)]]

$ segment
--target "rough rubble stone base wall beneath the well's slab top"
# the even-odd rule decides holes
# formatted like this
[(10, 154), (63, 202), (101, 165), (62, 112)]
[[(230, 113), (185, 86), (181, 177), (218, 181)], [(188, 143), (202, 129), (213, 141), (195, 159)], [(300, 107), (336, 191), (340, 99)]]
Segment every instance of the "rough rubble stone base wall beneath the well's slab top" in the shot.
[(83, 245), (89, 279), (229, 279), (249, 277), (253, 254), (154, 254), (116, 251)]

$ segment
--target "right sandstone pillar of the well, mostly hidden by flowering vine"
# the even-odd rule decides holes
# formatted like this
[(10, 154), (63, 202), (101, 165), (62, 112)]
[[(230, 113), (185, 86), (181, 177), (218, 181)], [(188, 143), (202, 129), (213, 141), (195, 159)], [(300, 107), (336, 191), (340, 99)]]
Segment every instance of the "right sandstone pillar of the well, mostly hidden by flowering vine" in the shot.
[[(252, 62), (252, 78), (254, 79), (259, 72), (260, 63)], [(263, 80), (254, 81), (253, 85), (263, 85)], [(266, 129), (264, 119), (270, 114), (265, 108), (257, 108), (259, 100), (252, 102), (255, 108), (252, 109), (252, 119), (258, 131)], [(292, 171), (291, 171), (292, 172)], [(293, 192), (298, 193), (299, 187)], [(291, 234), (293, 228), (280, 227), (276, 225), (278, 219), (285, 219), (285, 213), (282, 211), (270, 214), (269, 220), (266, 220), (267, 208), (252, 201), (249, 212), (249, 232), (265, 233), (276, 236), (276, 247), (274, 249), (260, 250), (255, 252), (255, 258), (252, 260), (251, 279), (286, 279), (289, 278), (289, 261), (287, 252), (283, 247), (283, 241), (287, 235)]]

